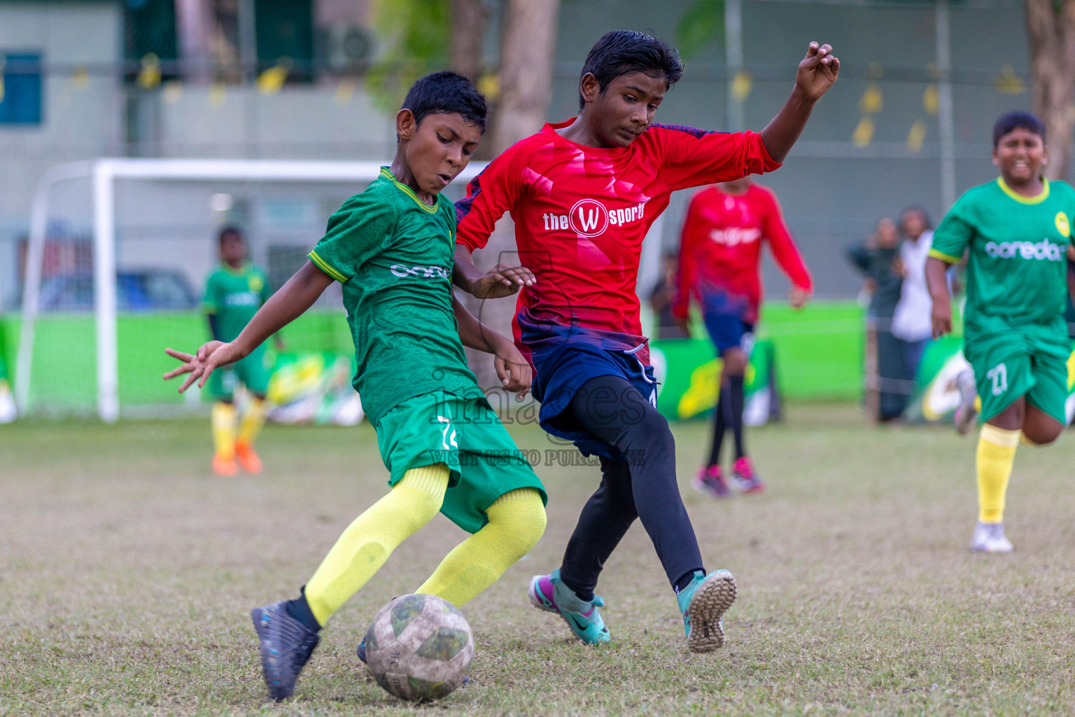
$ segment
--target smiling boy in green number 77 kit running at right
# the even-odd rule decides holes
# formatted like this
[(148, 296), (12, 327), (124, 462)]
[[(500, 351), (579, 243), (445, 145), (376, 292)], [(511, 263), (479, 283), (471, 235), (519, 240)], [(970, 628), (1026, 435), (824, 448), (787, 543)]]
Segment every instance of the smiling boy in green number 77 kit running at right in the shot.
[(1012, 549), (1002, 520), (1016, 446), (1020, 439), (1051, 443), (1066, 422), (1072, 346), (1063, 314), (1075, 189), (1044, 178), (1046, 161), (1042, 121), (1027, 112), (1002, 115), (993, 127), (1001, 176), (959, 198), (937, 227), (926, 264), (933, 335), (940, 336), (951, 331), (945, 271), (970, 255), (963, 353), (985, 421), (972, 550)]

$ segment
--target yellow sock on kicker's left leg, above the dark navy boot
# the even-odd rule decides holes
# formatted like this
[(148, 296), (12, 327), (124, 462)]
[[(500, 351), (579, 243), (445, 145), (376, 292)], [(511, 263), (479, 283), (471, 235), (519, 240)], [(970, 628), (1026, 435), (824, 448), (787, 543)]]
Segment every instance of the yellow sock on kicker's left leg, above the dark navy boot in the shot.
[(413, 468), (387, 496), (355, 518), (306, 583), (321, 625), (385, 564), (392, 550), (433, 519), (448, 489), (444, 463)]

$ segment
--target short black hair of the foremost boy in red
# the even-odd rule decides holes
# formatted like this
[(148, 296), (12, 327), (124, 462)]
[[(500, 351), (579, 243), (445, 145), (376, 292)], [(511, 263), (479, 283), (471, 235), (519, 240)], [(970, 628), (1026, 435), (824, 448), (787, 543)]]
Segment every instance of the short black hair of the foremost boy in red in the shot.
[[(587, 72), (597, 78), (602, 94), (613, 80), (632, 72), (643, 72), (651, 77), (664, 75), (664, 82), (671, 88), (683, 76), (683, 61), (675, 47), (651, 34), (613, 30), (601, 35), (590, 47), (583, 72), (578, 75), (579, 82)], [(578, 109), (585, 106), (579, 88)]]

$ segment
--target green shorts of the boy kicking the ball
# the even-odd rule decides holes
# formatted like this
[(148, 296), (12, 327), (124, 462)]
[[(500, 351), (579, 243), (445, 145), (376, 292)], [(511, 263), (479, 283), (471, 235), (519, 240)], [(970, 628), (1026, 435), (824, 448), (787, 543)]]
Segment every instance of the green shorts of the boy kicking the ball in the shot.
[(475, 533), (486, 510), (516, 488), (548, 496), (530, 462), (485, 399), (434, 391), (400, 403), (377, 421), (377, 446), (396, 485), (412, 468), (446, 463), (452, 471), (441, 505), (452, 522)]

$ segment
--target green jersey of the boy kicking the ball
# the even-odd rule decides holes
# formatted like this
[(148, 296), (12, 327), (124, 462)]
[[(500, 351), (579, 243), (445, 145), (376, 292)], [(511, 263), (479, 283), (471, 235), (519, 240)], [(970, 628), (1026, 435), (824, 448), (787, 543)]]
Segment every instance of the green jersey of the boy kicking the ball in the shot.
[(438, 195), (424, 203), (381, 168), (381, 176), (329, 218), (310, 259), (343, 284), (355, 341), (353, 384), (375, 426), (386, 412), (443, 390), (481, 398), (452, 310), (456, 211)]

